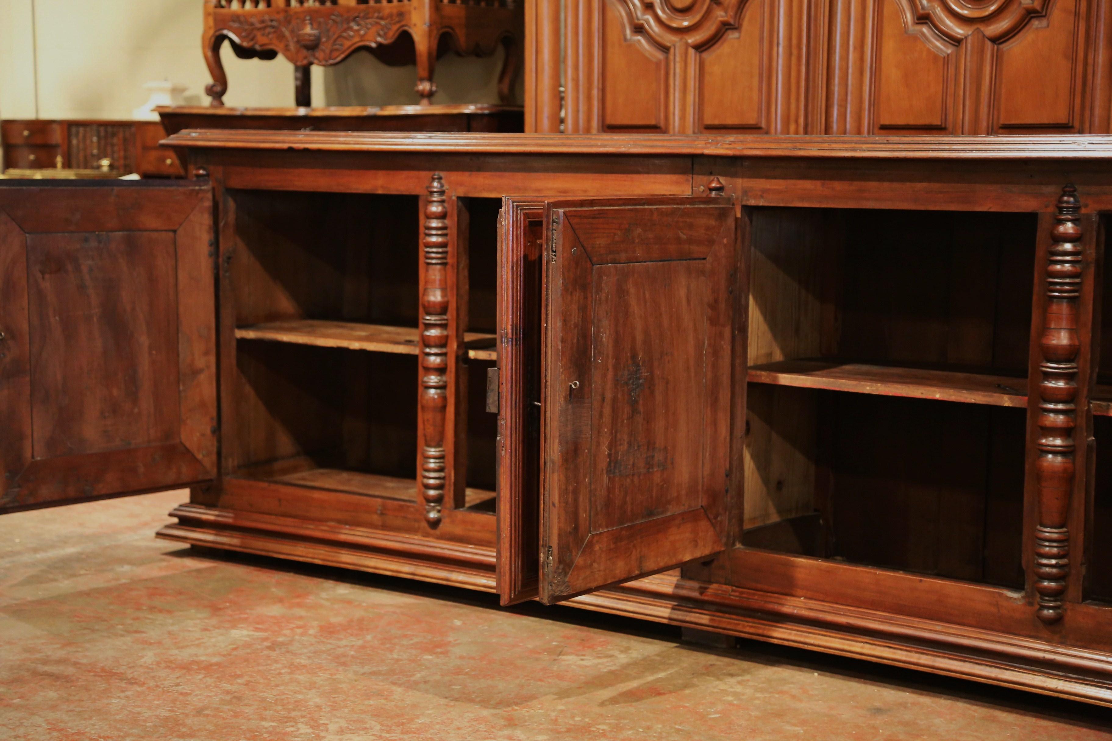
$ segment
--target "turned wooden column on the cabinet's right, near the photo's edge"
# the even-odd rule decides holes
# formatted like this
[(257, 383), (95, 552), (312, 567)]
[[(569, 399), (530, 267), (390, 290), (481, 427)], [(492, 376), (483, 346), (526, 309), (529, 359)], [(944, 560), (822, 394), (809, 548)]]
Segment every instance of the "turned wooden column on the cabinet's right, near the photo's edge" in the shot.
[(1046, 257), (1046, 309), (1040, 340), (1039, 438), (1035, 462), (1039, 524), (1034, 572), (1037, 615), (1052, 624), (1062, 619), (1070, 575), (1070, 500), (1076, 475), (1078, 333), (1083, 247), (1081, 201), (1066, 186), (1058, 199)]

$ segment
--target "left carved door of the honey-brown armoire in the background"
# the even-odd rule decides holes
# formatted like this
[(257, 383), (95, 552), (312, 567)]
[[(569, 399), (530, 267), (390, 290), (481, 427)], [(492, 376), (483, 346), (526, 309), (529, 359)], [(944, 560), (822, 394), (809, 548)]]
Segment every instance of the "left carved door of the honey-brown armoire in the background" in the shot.
[(805, 133), (804, 0), (568, 0), (572, 133)]

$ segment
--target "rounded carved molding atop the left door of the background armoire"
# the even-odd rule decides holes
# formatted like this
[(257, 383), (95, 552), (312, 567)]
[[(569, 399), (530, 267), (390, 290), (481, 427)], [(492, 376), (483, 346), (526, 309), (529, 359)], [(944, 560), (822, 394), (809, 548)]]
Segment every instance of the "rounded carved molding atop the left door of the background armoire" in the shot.
[(737, 28), (747, 0), (615, 1), (629, 34), (643, 36), (666, 51), (681, 42), (695, 49), (714, 44)]

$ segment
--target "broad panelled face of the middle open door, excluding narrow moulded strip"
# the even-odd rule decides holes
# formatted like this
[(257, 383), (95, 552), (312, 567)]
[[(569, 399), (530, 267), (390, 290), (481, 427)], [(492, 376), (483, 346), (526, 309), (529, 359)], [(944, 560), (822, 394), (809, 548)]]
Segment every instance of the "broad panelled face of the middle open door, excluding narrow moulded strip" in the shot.
[(723, 199), (550, 203), (540, 600), (725, 547), (736, 278)]

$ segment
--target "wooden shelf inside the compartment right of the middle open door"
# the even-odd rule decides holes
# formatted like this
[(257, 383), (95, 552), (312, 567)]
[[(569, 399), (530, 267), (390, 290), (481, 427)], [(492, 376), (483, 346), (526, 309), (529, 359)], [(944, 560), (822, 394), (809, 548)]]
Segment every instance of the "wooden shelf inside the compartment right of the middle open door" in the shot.
[[(753, 383), (774, 383), (804, 389), (937, 399), (995, 407), (1027, 405), (1026, 379), (1011, 375), (832, 360), (784, 360), (754, 366), (749, 369), (748, 380)], [(1110, 393), (1110, 404), (1112, 404), (1112, 393)]]

